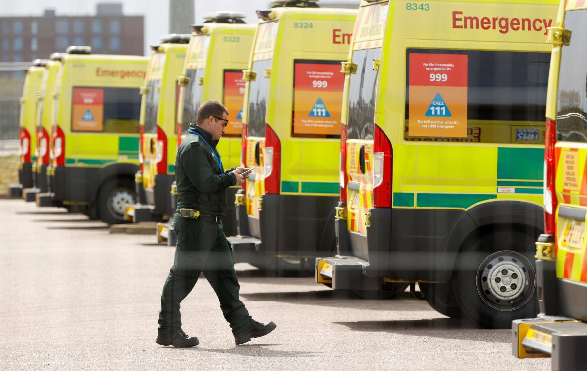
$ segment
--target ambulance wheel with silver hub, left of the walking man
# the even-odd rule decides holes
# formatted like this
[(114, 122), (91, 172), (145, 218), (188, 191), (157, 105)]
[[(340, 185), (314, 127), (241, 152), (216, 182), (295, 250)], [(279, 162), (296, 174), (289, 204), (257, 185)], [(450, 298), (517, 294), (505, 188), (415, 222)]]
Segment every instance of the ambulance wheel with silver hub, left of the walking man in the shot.
[(98, 217), (106, 224), (124, 223), (124, 208), (136, 203), (134, 181), (117, 178), (100, 187)]

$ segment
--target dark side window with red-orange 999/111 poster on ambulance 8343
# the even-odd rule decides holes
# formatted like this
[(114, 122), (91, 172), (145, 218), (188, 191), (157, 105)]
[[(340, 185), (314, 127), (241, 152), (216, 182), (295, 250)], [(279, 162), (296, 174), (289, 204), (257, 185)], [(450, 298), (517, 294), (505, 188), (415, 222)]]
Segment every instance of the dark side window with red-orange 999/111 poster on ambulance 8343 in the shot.
[(408, 49), (404, 139), (544, 144), (549, 53)]

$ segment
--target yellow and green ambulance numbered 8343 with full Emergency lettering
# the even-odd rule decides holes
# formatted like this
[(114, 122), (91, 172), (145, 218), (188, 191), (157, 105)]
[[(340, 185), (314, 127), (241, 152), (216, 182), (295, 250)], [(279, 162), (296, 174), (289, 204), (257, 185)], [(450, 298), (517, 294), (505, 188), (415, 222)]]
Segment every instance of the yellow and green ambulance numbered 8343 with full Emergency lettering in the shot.
[(437, 311), (493, 328), (536, 313), (556, 4), (361, 2), (343, 63), (338, 255), (316, 259), (317, 282), (419, 282)]

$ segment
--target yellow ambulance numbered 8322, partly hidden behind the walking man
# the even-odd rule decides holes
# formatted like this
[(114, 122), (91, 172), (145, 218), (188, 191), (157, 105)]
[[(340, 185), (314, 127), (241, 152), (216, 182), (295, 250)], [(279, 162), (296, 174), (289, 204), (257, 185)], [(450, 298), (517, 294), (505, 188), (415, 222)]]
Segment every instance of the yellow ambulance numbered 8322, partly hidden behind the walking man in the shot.
[[(230, 115), (226, 133), (218, 142), (226, 170), (241, 163), (242, 97), (245, 82), (242, 70), (247, 69), (255, 25), (247, 25), (238, 12), (217, 12), (204, 17), (204, 25), (192, 26), (190, 46), (183, 75), (178, 78), (177, 143), (183, 140), (200, 105), (207, 100), (218, 100), (228, 108)], [(224, 233), (237, 234), (234, 197), (239, 187), (228, 188)], [(172, 210), (173, 210), (172, 201)], [(157, 224), (157, 241), (175, 245), (170, 223)]]

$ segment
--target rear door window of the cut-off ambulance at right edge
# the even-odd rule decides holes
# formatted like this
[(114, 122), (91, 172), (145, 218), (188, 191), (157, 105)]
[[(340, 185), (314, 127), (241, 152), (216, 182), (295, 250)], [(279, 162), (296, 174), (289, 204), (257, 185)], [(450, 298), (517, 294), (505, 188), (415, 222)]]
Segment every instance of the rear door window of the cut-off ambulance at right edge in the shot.
[(566, 12), (565, 26), (573, 34), (561, 53), (556, 140), (587, 143), (587, 9)]

